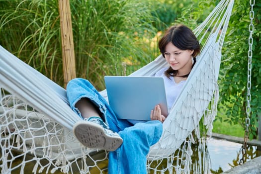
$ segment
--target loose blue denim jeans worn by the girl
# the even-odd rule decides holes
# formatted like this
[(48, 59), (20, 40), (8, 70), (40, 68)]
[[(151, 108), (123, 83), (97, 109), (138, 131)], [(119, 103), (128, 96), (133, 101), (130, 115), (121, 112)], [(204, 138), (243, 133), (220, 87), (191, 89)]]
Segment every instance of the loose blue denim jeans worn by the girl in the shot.
[(158, 120), (131, 124), (118, 119), (107, 101), (85, 79), (73, 79), (67, 85), (67, 97), (71, 108), (81, 116), (75, 104), (83, 97), (89, 98), (99, 108), (102, 119), (110, 129), (123, 139), (122, 145), (109, 152), (109, 174), (146, 174), (147, 154), (150, 146), (162, 135), (162, 123)]

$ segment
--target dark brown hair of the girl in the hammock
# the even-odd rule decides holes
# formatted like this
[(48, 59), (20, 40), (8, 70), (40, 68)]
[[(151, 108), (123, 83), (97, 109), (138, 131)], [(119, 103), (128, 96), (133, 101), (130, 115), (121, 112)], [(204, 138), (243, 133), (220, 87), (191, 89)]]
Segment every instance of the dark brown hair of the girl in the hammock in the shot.
[[(196, 63), (196, 56), (200, 53), (200, 45), (193, 31), (187, 26), (181, 24), (170, 27), (159, 41), (159, 49), (164, 58), (166, 45), (170, 42), (180, 50), (194, 50), (192, 54), (194, 59), (192, 65), (193, 68)], [(165, 72), (167, 77), (176, 76), (176, 74), (177, 70), (173, 70), (171, 67)], [(189, 74), (182, 77), (188, 77), (188, 75)]]

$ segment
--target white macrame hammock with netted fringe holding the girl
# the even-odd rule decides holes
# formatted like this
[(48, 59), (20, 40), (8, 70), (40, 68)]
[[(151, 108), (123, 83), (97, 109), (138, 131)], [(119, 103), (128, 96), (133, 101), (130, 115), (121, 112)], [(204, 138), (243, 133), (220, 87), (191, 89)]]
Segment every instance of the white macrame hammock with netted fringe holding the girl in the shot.
[[(205, 21), (193, 30), (204, 45), (163, 123), (160, 141), (150, 149), (148, 171), (189, 173), (192, 131), (195, 130), (199, 137), (198, 124), (202, 116), (211, 135), (218, 100), (221, 49), (233, 3), (234, 0), (221, 0)], [(130, 76), (154, 76), (165, 66), (168, 64), (159, 56)], [(15, 170), (23, 174), (28, 163), (34, 164), (31, 168), (33, 173), (54, 173), (56, 170), (63, 173), (92, 173), (93, 170), (102, 173), (106, 170), (100, 168), (99, 163), (106, 160), (107, 152), (102, 151), (105, 156), (96, 158), (98, 150), (81, 146), (74, 137), (73, 125), (81, 118), (69, 107), (65, 89), (1, 46), (0, 90), (2, 174)], [(106, 98), (106, 90), (100, 93)], [(20, 155), (15, 155), (17, 152)], [(28, 154), (30, 158), (25, 158)], [(21, 158), (20, 163), (12, 165)], [(47, 163), (42, 163), (43, 159)], [(159, 167), (166, 159), (167, 166)]]

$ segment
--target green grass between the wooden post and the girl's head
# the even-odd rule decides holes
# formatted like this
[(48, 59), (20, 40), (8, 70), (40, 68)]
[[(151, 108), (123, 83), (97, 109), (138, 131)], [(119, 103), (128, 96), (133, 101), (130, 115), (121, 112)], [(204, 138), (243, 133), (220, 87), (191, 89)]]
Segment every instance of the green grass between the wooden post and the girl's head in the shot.
[[(77, 64), (77, 70), (81, 70), (78, 75), (102, 88), (104, 75), (128, 75), (135, 66), (138, 69), (151, 61), (154, 50), (149, 48), (146, 54), (143, 49), (148, 49), (149, 44), (138, 40), (156, 35), (151, 24), (154, 20), (150, 14), (152, 8), (146, 0), (78, 0), (73, 3), (75, 50), (81, 62)], [(130, 62), (126, 63), (126, 59)]]

